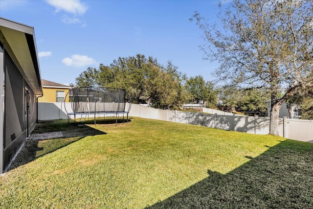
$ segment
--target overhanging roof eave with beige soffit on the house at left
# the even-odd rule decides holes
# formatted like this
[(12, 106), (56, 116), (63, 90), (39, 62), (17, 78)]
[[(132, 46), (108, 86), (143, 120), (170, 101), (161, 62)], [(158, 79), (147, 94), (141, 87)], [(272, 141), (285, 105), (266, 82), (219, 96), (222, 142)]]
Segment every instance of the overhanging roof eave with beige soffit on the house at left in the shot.
[(30, 88), (43, 94), (34, 28), (0, 18), (0, 37)]

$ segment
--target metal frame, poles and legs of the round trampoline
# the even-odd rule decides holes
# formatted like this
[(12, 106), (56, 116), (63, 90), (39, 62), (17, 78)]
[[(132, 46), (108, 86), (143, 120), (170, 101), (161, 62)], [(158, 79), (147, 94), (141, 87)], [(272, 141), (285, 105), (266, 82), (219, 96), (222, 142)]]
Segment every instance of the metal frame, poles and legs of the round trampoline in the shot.
[[(75, 91), (75, 89), (76, 89), (76, 91)], [(70, 102), (71, 103), (71, 107), (72, 107), (72, 110), (73, 110), (73, 112), (72, 113), (68, 113), (67, 112), (67, 109), (66, 109), (66, 105), (65, 105), (65, 103), (64, 103), (64, 107), (65, 107), (65, 111), (67, 112), (67, 124), (69, 124), (70, 123), (70, 119), (71, 119), (71, 116), (74, 116), (74, 126), (76, 126), (76, 115), (80, 115), (81, 117), (80, 118), (83, 118), (83, 115), (85, 115), (85, 120), (86, 120), (86, 117), (88, 116), (88, 120), (89, 120), (89, 115), (93, 115), (94, 116), (94, 125), (96, 125), (96, 115), (98, 114), (98, 115), (104, 115), (103, 116), (103, 119), (105, 119), (105, 115), (109, 115), (109, 114), (115, 114), (115, 123), (116, 123), (116, 125), (117, 125), (117, 116), (119, 115), (119, 114), (123, 114), (123, 121), (124, 121), (124, 114), (127, 114), (127, 122), (128, 122), (128, 115), (129, 115), (129, 112), (130, 112), (130, 109), (131, 109), (131, 106), (132, 106), (132, 102), (131, 102), (131, 97), (129, 96), (129, 93), (126, 91), (126, 90), (124, 90), (124, 89), (117, 89), (117, 88), (109, 88), (109, 87), (75, 87), (75, 88), (72, 88), (72, 89), (70, 89), (69, 91), (68, 91), (68, 93), (67, 93), (67, 95), (65, 96), (65, 98), (67, 97), (67, 96), (70, 96), (69, 95), (69, 93), (71, 93), (71, 92), (73, 92), (73, 91), (75, 91), (75, 93), (72, 95), (73, 96), (73, 100), (74, 100), (74, 98), (75, 98), (75, 96), (76, 96), (76, 93), (78, 92), (78, 90), (80, 90), (80, 89), (87, 89), (87, 95), (88, 95), (88, 90), (89, 89), (91, 89), (92, 91), (94, 91), (95, 90), (95, 93), (97, 93), (97, 91), (99, 91), (99, 90), (103, 90), (103, 89), (115, 89), (115, 93), (116, 93), (116, 95), (118, 95), (118, 90), (119, 91), (124, 91), (125, 92), (125, 97), (123, 98), (123, 100), (125, 101), (125, 102), (123, 102), (124, 103), (124, 110), (123, 111), (96, 111), (96, 103), (97, 103), (97, 101), (95, 100), (94, 102), (90, 102), (90, 103), (94, 103), (94, 111), (90, 111), (87, 107), (86, 107), (86, 109), (87, 109), (87, 111), (86, 112), (75, 112), (74, 111), (74, 109), (77, 109), (77, 108), (73, 108), (73, 103), (79, 103), (79, 102), (81, 102), (81, 101), (78, 101), (78, 102)], [(102, 93), (103, 93), (103, 96), (105, 97), (105, 93), (106, 92), (104, 92), (104, 91), (102, 91)], [(107, 92), (107, 93), (113, 93), (113, 92)], [(129, 98), (129, 106), (128, 106), (128, 110), (127, 111), (125, 111), (125, 108), (126, 108), (126, 96), (128, 95), (128, 98)], [(77, 96), (82, 96), (82, 95), (77, 95)], [(92, 95), (91, 95), (92, 96)], [(119, 96), (117, 96), (117, 98), (118, 98), (118, 106), (117, 106), (117, 110), (119, 110), (120, 109), (120, 98), (119, 98)], [(87, 96), (87, 99), (86, 99), (87, 101), (87, 104), (86, 105), (89, 105), (89, 96)], [(99, 101), (98, 101), (98, 103), (100, 103)], [(101, 103), (105, 103), (105, 102), (101, 102)], [(107, 103), (115, 103), (115, 102), (107, 102)], [(79, 106), (79, 105), (78, 105)], [(103, 105), (103, 109), (105, 109), (105, 105)], [(85, 121), (84, 120), (84, 121)]]

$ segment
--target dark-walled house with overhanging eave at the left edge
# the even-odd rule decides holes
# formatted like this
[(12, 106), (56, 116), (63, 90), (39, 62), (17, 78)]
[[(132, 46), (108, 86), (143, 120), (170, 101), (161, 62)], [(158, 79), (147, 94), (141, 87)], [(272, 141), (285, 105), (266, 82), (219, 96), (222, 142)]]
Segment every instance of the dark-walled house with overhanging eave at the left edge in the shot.
[(6, 170), (37, 122), (42, 95), (34, 28), (0, 18), (0, 173)]

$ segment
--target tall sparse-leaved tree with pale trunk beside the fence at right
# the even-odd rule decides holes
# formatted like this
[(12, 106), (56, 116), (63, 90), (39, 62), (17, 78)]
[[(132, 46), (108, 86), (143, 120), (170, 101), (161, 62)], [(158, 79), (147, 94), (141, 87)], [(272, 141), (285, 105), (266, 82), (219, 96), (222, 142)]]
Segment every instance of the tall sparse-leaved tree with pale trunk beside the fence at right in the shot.
[(220, 14), (224, 29), (197, 12), (191, 20), (204, 32), (207, 58), (221, 63), (217, 77), (270, 90), (269, 133), (278, 135), (282, 103), (313, 87), (313, 1), (234, 0)]

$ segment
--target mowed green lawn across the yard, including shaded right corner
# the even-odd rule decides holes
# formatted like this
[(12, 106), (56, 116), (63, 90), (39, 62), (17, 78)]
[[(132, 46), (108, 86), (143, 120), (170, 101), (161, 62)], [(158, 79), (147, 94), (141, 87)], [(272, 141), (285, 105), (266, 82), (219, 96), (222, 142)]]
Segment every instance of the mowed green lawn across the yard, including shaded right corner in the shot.
[(75, 136), (2, 175), (0, 208), (313, 207), (313, 143), (143, 118), (49, 127)]

